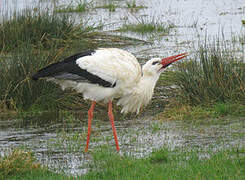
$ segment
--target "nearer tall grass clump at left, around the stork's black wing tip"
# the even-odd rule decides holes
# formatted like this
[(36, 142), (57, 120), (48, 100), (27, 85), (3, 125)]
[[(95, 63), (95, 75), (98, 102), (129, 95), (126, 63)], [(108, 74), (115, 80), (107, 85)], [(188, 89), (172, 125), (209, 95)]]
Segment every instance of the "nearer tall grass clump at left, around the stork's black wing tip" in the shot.
[[(41, 48), (40, 48), (41, 49)], [(31, 45), (19, 48), (16, 54), (0, 61), (0, 109), (15, 111), (72, 108), (81, 98), (73, 92), (63, 92), (45, 81), (34, 82), (31, 75), (54, 62), (60, 56), (56, 50), (46, 53)], [(63, 52), (64, 53), (64, 52)]]

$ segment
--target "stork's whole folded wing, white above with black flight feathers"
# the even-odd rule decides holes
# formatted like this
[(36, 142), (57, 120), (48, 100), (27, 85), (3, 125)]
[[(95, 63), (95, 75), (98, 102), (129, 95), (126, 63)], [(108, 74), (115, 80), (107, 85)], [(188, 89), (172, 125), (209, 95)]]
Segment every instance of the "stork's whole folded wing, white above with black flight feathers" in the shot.
[(39, 70), (32, 79), (53, 77), (114, 87), (116, 83), (138, 82), (140, 76), (140, 65), (132, 54), (116, 48), (105, 48), (75, 54), (62, 62), (51, 64)]

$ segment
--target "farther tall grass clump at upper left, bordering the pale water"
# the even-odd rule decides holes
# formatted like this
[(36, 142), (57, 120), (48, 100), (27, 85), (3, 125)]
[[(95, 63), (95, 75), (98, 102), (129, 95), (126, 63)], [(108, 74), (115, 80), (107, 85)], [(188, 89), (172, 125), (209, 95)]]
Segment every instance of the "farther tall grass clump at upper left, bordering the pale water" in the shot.
[(65, 41), (89, 30), (88, 26), (76, 27), (68, 16), (32, 13), (29, 10), (13, 15), (0, 24), (0, 52), (14, 51), (27, 44), (50, 49), (62, 46)]

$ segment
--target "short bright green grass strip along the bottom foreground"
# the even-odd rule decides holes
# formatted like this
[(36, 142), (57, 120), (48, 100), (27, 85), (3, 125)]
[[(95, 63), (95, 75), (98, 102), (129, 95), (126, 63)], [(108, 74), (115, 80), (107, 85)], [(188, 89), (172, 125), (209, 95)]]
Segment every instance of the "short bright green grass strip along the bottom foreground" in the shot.
[[(244, 149), (233, 148), (218, 152), (200, 150), (174, 150), (166, 148), (154, 151), (149, 157), (136, 159), (112, 153), (107, 148), (93, 152), (90, 171), (77, 179), (244, 179)], [(8, 158), (5, 158), (8, 159)], [(22, 162), (24, 158), (22, 158)], [(6, 163), (2, 163), (5, 168)], [(19, 171), (26, 169), (18, 165)], [(13, 166), (15, 169), (15, 165)], [(9, 169), (9, 167), (7, 167)], [(3, 172), (3, 171), (2, 171)], [(3, 177), (3, 174), (2, 174)], [(8, 179), (72, 179), (39, 168), (4, 174)]]

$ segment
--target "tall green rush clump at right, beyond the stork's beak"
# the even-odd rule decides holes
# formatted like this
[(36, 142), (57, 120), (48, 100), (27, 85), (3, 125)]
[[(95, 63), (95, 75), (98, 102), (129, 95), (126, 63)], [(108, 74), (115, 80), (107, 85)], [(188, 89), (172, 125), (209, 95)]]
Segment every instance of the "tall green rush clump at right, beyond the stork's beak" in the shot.
[[(219, 43), (219, 42), (217, 42)], [(200, 46), (176, 67), (179, 100), (190, 105), (245, 102), (245, 63), (222, 44)]]

